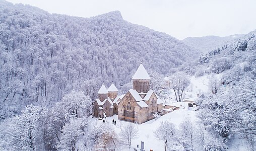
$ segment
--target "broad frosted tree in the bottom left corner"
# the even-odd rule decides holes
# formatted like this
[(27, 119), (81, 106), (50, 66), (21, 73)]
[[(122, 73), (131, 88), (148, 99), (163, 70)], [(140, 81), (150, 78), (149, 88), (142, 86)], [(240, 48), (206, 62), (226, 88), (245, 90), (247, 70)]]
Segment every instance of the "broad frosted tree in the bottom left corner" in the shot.
[(35, 150), (41, 148), (42, 139), (39, 131), (41, 118), (41, 108), (38, 106), (27, 106), (22, 114), (13, 118), (7, 126), (7, 140), (9, 141), (7, 150)]

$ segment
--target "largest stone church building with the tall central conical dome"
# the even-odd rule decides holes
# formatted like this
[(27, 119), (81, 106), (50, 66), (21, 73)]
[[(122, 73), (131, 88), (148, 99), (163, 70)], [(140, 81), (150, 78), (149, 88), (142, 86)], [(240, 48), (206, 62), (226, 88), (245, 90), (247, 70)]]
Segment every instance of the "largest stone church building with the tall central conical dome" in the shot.
[(133, 89), (118, 104), (118, 119), (141, 124), (153, 119), (154, 113), (163, 109), (163, 102), (150, 90), (150, 77), (143, 64), (140, 64), (132, 80)]

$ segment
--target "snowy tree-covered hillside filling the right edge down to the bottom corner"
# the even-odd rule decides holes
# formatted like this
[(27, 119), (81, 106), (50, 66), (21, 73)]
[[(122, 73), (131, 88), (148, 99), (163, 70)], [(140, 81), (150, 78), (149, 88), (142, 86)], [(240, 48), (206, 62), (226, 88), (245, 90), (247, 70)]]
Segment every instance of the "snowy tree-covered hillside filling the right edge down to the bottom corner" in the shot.
[(198, 116), (219, 150), (255, 150), (255, 33), (201, 56), (196, 67), (196, 77), (209, 76), (211, 92), (198, 99)]

